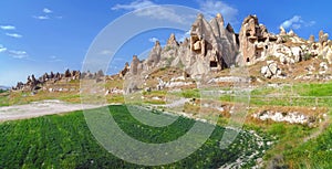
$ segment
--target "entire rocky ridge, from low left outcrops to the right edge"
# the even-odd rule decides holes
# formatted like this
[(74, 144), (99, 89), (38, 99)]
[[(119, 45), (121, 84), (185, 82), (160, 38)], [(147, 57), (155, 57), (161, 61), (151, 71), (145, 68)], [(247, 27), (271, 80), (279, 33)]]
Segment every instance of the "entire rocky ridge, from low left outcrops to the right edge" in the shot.
[[(123, 85), (108, 85), (113, 87), (106, 88), (115, 89), (116, 93), (143, 88), (159, 91), (165, 86), (190, 86), (195, 80), (201, 78), (215, 82), (212, 78), (217, 81), (225, 76), (227, 73), (222, 72), (229, 67), (243, 65), (249, 67), (253, 83), (270, 78), (329, 81), (332, 80), (330, 64), (332, 41), (323, 31), (319, 33), (318, 41), (313, 35), (304, 40), (292, 30), (287, 32), (283, 28), (273, 34), (259, 23), (256, 15), (248, 15), (242, 21), (240, 32), (236, 33), (229, 23), (225, 24), (220, 13), (210, 21), (198, 14), (191, 25), (190, 36), (184, 42), (178, 42), (174, 34), (170, 34), (165, 46), (156, 41), (146, 60), (141, 61), (134, 55), (132, 62), (126, 63), (116, 75), (102, 78), (102, 71), (81, 73), (66, 70), (64, 73), (45, 73), (39, 78), (31, 75), (25, 83), (19, 82), (12, 89), (79, 92), (79, 85), (66, 85), (80, 78), (93, 78), (97, 82), (106, 80), (106, 83), (122, 82)], [(163, 73), (166, 67), (175, 68), (175, 72)]]

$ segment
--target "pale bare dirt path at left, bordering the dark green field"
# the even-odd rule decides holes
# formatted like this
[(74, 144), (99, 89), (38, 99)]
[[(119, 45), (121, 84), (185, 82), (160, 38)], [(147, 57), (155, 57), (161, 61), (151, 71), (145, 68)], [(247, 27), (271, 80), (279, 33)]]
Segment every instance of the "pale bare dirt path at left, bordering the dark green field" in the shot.
[[(97, 107), (101, 105), (84, 105), (84, 108), (87, 109)], [(0, 107), (0, 122), (63, 114), (80, 109), (83, 109), (81, 104), (69, 104), (58, 99), (42, 101), (27, 105)]]

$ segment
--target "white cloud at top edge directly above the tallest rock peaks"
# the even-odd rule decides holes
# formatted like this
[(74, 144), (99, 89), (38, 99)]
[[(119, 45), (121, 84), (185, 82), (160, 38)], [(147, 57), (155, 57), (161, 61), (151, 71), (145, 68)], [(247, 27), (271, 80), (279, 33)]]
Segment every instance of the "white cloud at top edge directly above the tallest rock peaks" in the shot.
[(199, 9), (209, 15), (221, 13), (226, 22), (237, 23), (238, 9), (222, 2), (215, 0), (199, 0)]

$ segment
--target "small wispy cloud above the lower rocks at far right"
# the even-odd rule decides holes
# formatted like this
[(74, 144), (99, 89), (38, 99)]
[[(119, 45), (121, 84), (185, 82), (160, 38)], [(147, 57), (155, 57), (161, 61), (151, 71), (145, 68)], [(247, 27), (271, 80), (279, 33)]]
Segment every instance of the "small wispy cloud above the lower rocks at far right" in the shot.
[(293, 15), (291, 19), (288, 19), (283, 21), (280, 27), (283, 27), (284, 29), (301, 29), (304, 27), (312, 27), (315, 24), (315, 21), (304, 21), (301, 15)]

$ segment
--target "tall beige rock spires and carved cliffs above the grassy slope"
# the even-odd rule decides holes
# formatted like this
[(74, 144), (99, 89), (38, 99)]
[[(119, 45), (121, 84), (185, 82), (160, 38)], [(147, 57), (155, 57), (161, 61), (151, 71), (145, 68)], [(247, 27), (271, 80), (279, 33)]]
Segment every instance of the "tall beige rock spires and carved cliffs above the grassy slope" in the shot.
[[(332, 63), (332, 41), (329, 34), (321, 31), (319, 41), (311, 35), (309, 40), (299, 38), (292, 30), (280, 28), (279, 34), (268, 32), (256, 15), (247, 17), (239, 33), (232, 27), (225, 27), (222, 15), (207, 21), (198, 14), (191, 25), (190, 38), (177, 42), (172, 34), (165, 46), (156, 41), (147, 60), (139, 61), (134, 55), (126, 64), (121, 76), (148, 74), (153, 70), (174, 66), (180, 67), (191, 77), (200, 77), (210, 72), (218, 72), (236, 65), (252, 65), (268, 59), (277, 59), (280, 64), (295, 64), (311, 57), (320, 56)], [(276, 62), (268, 62), (261, 68), (262, 75), (271, 78), (282, 76)]]

